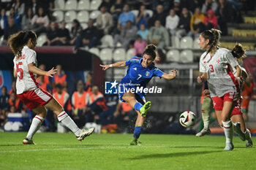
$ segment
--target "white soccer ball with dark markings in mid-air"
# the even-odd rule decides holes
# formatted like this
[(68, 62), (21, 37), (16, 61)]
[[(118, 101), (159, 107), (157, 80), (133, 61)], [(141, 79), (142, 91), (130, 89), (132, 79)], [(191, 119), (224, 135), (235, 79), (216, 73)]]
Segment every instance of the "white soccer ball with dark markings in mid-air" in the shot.
[(195, 125), (195, 122), (196, 122), (195, 113), (193, 113), (191, 111), (185, 111), (185, 112), (181, 113), (181, 115), (179, 117), (179, 122), (185, 128)]

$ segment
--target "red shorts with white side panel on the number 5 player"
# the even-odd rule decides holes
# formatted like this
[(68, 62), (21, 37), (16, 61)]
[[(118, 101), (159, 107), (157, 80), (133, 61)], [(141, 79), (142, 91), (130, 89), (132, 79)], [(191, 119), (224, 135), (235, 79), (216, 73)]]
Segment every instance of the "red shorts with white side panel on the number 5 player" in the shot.
[(20, 100), (28, 107), (28, 109), (35, 109), (38, 106), (45, 106), (53, 96), (42, 88), (25, 91), (17, 95)]

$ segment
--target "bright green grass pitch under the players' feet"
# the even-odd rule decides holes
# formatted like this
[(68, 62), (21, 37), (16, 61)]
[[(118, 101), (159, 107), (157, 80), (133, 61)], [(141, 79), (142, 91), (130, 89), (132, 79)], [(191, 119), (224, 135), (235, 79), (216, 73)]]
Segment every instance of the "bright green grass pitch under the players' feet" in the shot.
[[(92, 134), (78, 142), (73, 134), (42, 133), (37, 145), (22, 145), (26, 133), (0, 133), (0, 169), (256, 169), (256, 148), (234, 136), (235, 149), (222, 151), (224, 136)], [(252, 139), (254, 142), (255, 137)]]

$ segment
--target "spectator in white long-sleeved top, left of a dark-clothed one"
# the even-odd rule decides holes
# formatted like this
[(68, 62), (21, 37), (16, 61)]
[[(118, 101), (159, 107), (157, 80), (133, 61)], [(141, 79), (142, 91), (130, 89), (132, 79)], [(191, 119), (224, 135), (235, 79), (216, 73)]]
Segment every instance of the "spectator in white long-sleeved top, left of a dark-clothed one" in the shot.
[(166, 22), (165, 22), (165, 28), (167, 31), (169, 31), (170, 35), (176, 34), (176, 28), (178, 26), (178, 15), (176, 15), (176, 12), (174, 9), (170, 9), (170, 15), (167, 16)]

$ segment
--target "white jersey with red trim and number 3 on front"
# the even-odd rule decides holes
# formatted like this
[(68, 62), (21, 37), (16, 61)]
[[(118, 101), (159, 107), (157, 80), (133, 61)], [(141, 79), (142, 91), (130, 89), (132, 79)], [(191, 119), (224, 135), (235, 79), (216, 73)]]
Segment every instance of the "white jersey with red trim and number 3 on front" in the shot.
[[(206, 57), (205, 57), (206, 56)], [(225, 93), (238, 92), (233, 68), (238, 66), (230, 50), (218, 48), (211, 56), (203, 53), (200, 57), (200, 72), (207, 73), (208, 88), (211, 97), (222, 97)]]

